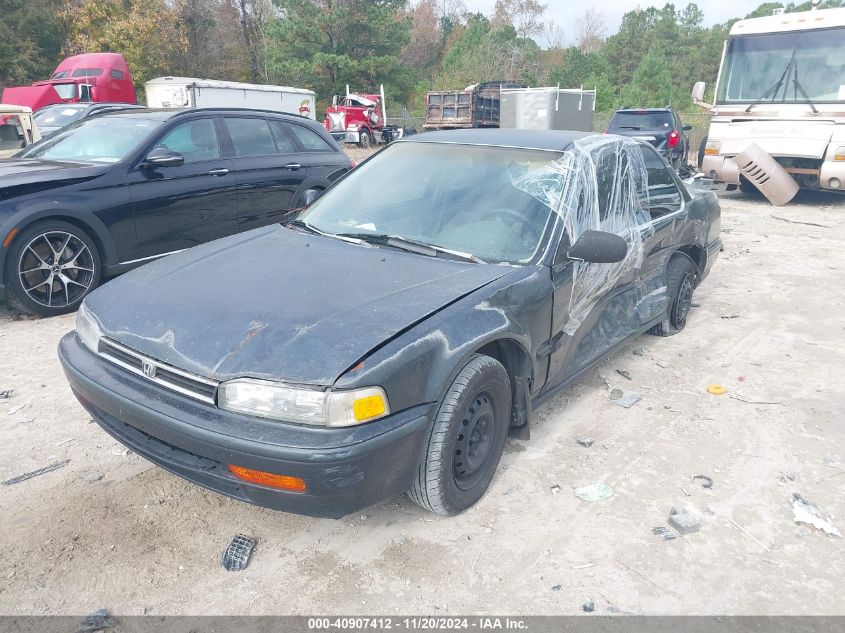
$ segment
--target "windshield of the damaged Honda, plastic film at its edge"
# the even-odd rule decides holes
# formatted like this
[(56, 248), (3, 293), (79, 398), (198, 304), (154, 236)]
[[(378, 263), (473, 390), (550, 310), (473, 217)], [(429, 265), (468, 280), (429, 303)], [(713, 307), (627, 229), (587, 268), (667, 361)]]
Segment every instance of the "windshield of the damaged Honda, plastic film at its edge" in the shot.
[(393, 236), (485, 262), (526, 264), (554, 216), (536, 186), (562, 188), (557, 180), (564, 176), (547, 169), (561, 155), (399, 142), (356, 168), (299, 219), (323, 233), (365, 241)]

